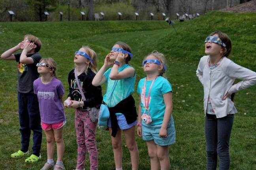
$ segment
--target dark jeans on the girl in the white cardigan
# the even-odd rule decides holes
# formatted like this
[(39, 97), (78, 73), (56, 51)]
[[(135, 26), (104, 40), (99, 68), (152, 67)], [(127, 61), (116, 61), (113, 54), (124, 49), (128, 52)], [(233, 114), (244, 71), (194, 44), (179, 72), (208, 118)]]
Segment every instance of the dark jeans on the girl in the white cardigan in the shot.
[(216, 170), (218, 157), (220, 159), (220, 170), (229, 169), (229, 140), (233, 126), (233, 120), (233, 114), (222, 118), (216, 118), (216, 115), (206, 114), (205, 139), (207, 152), (207, 170)]

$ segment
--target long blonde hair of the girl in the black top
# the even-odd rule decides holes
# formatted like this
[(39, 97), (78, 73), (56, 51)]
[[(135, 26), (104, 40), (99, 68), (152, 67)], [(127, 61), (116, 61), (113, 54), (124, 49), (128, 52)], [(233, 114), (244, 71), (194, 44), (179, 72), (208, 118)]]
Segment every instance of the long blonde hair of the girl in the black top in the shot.
[(86, 54), (92, 59), (93, 63), (88, 59), (88, 61), (90, 61), (87, 64), (87, 67), (85, 68), (85, 74), (87, 74), (88, 72), (88, 68), (90, 68), (92, 70), (92, 72), (94, 72), (95, 74), (98, 72), (98, 63), (97, 63), (97, 54), (94, 50), (92, 50), (92, 48), (90, 48), (89, 46), (82, 46), (82, 48), (85, 50)]

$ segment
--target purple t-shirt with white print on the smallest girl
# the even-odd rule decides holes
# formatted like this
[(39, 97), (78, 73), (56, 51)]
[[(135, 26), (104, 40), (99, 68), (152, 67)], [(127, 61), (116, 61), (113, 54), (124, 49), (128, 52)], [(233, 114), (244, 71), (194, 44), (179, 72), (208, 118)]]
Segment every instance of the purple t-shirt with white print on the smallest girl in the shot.
[(53, 78), (48, 84), (43, 84), (41, 78), (34, 81), (34, 93), (38, 96), (41, 122), (47, 124), (66, 120), (64, 108), (59, 95), (64, 94), (60, 80)]

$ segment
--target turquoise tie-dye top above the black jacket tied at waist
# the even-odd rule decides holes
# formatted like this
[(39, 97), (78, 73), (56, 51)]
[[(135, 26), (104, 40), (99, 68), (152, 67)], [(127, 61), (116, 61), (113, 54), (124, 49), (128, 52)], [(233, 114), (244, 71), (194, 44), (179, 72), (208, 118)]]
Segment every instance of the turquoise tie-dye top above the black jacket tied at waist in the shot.
[[(122, 65), (118, 71), (121, 72), (122, 70), (131, 67), (128, 64)], [(133, 67), (132, 67), (133, 68)], [(103, 101), (107, 102), (107, 98), (109, 96), (109, 93), (111, 93), (113, 89), (113, 85), (117, 80), (111, 80), (109, 78), (109, 74), (111, 72), (112, 68), (109, 68), (105, 73), (104, 76), (106, 78), (107, 82), (107, 92), (103, 96)], [(114, 107), (117, 105), (120, 101), (124, 100), (128, 96), (130, 96), (134, 92), (134, 85), (135, 85), (135, 79), (136, 79), (136, 73), (131, 78), (126, 79), (120, 79), (117, 83), (117, 86), (115, 87), (115, 90), (107, 103), (108, 107)]]

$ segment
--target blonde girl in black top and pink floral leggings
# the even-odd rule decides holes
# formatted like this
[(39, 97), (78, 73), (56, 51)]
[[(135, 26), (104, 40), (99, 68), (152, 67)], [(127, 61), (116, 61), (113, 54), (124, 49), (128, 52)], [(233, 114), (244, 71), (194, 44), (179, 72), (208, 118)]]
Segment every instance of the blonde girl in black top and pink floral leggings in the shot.
[(84, 169), (87, 150), (90, 153), (90, 170), (98, 170), (98, 152), (95, 142), (97, 122), (92, 122), (88, 111), (88, 107), (99, 108), (102, 103), (101, 87), (92, 85), (92, 79), (97, 73), (96, 53), (90, 47), (83, 46), (75, 52), (74, 63), (79, 84), (86, 98), (83, 101), (75, 79), (75, 70), (71, 70), (68, 75), (70, 93), (64, 105), (76, 109), (75, 130), (78, 145), (76, 170)]

